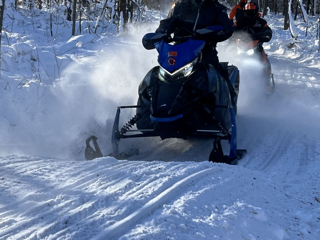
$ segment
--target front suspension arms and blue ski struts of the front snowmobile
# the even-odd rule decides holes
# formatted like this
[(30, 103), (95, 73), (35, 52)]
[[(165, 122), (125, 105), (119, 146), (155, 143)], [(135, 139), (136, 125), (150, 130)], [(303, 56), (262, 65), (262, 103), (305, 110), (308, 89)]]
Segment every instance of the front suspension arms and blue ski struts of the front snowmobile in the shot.
[[(182, 138), (186, 139), (185, 134), (181, 133), (165, 133), (165, 132), (156, 132), (154, 129), (132, 129), (127, 130), (126, 132), (142, 132), (138, 134), (131, 134), (131, 135), (124, 135), (121, 131), (119, 131), (119, 120), (120, 120), (120, 109), (121, 108), (142, 108), (141, 105), (131, 105), (131, 106), (119, 106), (117, 107), (116, 117), (113, 124), (112, 129), (112, 149), (113, 153), (111, 153), (109, 156), (113, 156), (117, 159), (124, 159), (125, 157), (128, 157), (127, 154), (120, 154), (119, 153), (119, 142), (122, 138), (140, 138), (140, 137), (161, 137), (163, 139), (165, 138)], [(204, 107), (204, 106), (202, 106)], [(207, 106), (206, 106), (207, 107)], [(188, 137), (198, 137), (198, 138), (210, 138), (214, 139), (213, 142), (213, 149), (209, 157), (209, 161), (212, 162), (219, 162), (219, 163), (227, 163), (227, 164), (237, 164), (237, 160), (242, 158), (243, 155), (247, 152), (245, 149), (236, 149), (237, 148), (237, 140), (236, 140), (236, 118), (235, 118), (235, 112), (233, 107), (230, 106), (221, 106), (221, 105), (214, 105), (214, 106), (208, 106), (208, 107), (215, 107), (215, 108), (229, 108), (230, 109), (230, 116), (231, 116), (231, 133), (228, 132), (226, 135), (217, 135), (218, 133), (221, 133), (217, 130), (197, 130), (197, 133), (193, 133), (191, 135), (188, 135)], [(223, 155), (223, 151), (221, 148), (221, 140), (228, 140), (230, 144), (230, 153), (229, 155)]]

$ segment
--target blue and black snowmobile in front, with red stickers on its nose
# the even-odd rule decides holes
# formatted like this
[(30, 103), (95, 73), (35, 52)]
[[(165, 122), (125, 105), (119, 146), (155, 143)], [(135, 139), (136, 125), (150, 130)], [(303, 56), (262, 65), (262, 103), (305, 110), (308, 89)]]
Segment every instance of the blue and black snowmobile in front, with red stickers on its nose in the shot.
[[(119, 153), (119, 141), (125, 138), (198, 137), (214, 140), (209, 161), (236, 164), (246, 152), (237, 149), (237, 96), (232, 105), (226, 81), (212, 65), (202, 61), (205, 41), (191, 36), (168, 38), (166, 34), (148, 33), (142, 43), (146, 49), (156, 48), (159, 66), (152, 68), (140, 83), (137, 105), (118, 107), (111, 156), (127, 157)], [(222, 64), (228, 69), (229, 79), (238, 93), (238, 69), (227, 66), (228, 63)], [(122, 108), (137, 110), (136, 115), (119, 129)], [(137, 129), (132, 128), (133, 125)], [(228, 140), (229, 155), (223, 154), (221, 140)]]

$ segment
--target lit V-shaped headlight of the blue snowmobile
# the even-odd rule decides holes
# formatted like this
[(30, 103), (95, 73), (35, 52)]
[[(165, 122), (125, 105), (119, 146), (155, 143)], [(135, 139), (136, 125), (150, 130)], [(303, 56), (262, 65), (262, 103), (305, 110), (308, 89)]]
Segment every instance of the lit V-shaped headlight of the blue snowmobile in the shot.
[(168, 72), (167, 70), (165, 70), (160, 66), (160, 69), (159, 69), (160, 79), (175, 81), (175, 80), (180, 80), (183, 77), (189, 76), (193, 72), (193, 68), (196, 66), (198, 59), (199, 57), (193, 60), (192, 62), (189, 62), (188, 64), (184, 65), (183, 67), (177, 69), (173, 73)]

